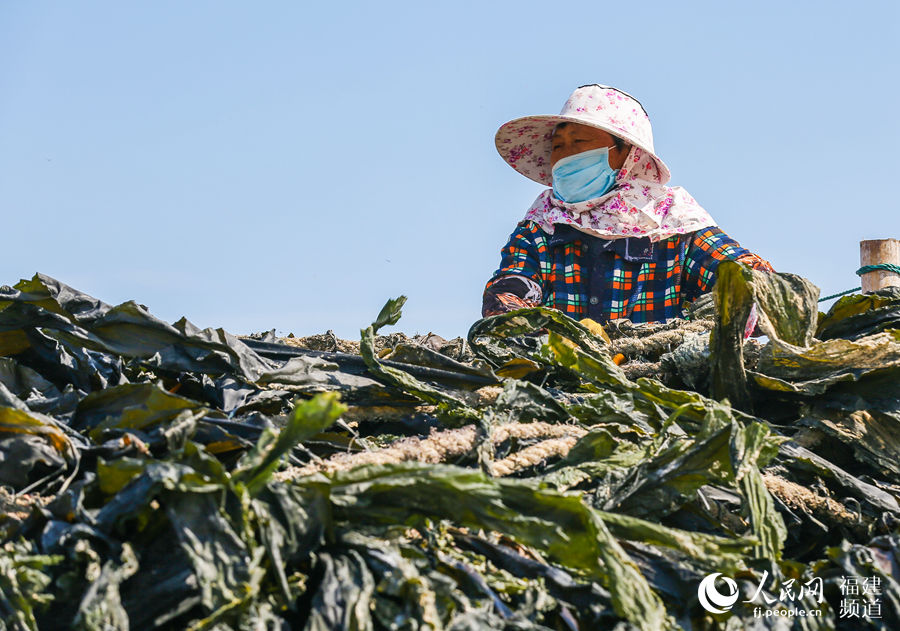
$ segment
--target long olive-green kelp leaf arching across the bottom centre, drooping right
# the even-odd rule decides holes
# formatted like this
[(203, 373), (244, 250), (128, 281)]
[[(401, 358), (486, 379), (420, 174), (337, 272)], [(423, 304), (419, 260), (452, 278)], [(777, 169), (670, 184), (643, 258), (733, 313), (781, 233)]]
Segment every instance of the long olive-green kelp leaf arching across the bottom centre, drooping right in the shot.
[(602, 582), (620, 616), (646, 629), (673, 626), (603, 521), (576, 495), (494, 480), (471, 469), (418, 463), (339, 472), (330, 485), (342, 519), (403, 523), (418, 515), (498, 530)]

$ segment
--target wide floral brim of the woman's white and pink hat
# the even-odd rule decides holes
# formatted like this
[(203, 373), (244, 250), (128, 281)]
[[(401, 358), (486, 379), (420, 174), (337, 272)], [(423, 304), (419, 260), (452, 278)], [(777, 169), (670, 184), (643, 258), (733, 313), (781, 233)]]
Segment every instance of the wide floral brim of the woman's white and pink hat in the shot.
[(497, 130), (497, 134), (494, 136), (494, 145), (509, 166), (530, 180), (551, 186), (553, 183), (550, 164), (551, 139), (554, 128), (560, 123), (577, 123), (602, 129), (630, 145), (640, 147), (649, 153), (656, 163), (659, 169), (660, 184), (665, 184), (671, 178), (669, 167), (656, 155), (653, 147), (646, 146), (629, 134), (627, 130), (575, 116), (548, 115), (516, 118)]

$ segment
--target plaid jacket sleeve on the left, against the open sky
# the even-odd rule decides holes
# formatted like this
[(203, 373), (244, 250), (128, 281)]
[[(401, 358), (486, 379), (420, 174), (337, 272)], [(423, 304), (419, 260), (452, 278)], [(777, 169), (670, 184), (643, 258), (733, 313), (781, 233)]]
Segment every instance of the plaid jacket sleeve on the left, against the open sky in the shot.
[(521, 222), (500, 250), (500, 267), (484, 288), (481, 315), (536, 307), (544, 297), (541, 270), (546, 267), (547, 240), (532, 221)]

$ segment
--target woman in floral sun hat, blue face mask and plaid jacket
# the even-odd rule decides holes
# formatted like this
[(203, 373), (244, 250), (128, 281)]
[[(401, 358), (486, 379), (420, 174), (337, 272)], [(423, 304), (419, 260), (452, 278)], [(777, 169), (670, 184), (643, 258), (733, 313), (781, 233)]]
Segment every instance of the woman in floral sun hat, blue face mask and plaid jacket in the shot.
[(774, 271), (716, 227), (653, 150), (650, 119), (632, 96), (578, 88), (559, 116), (503, 125), (497, 150), (551, 186), (501, 250), (482, 315), (545, 305), (575, 318), (658, 322), (708, 291), (720, 261)]

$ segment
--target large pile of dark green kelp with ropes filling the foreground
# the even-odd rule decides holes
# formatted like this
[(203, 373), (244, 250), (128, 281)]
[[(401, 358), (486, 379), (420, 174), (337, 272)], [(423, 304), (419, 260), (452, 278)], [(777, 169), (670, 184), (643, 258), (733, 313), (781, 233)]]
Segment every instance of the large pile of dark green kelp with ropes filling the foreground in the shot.
[(900, 628), (900, 291), (817, 297), (357, 353), (0, 288), (0, 629)]

